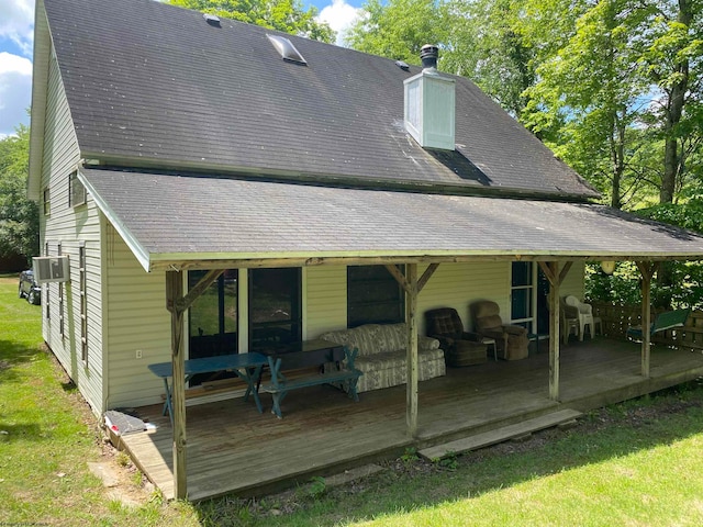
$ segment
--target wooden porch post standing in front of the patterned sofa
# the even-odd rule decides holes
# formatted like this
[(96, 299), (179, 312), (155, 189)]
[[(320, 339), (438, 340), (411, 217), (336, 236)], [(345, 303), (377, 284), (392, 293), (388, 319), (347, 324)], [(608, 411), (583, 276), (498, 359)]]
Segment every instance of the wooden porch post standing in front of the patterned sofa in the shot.
[(405, 321), (408, 324), (406, 346), (406, 404), (405, 423), (408, 435), (417, 436), (417, 265), (405, 267), (405, 279), (410, 285), (405, 292)]

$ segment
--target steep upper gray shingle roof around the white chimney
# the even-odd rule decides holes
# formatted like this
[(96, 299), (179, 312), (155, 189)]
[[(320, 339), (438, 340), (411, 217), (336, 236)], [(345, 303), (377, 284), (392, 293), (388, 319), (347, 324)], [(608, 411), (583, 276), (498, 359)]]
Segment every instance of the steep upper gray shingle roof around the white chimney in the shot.
[(596, 195), (465, 78), (456, 78), (460, 156), (438, 160), (402, 125), (403, 80), (419, 68), (290, 35), (308, 66), (286, 63), (269, 30), (214, 27), (152, 0), (45, 5), (86, 158)]

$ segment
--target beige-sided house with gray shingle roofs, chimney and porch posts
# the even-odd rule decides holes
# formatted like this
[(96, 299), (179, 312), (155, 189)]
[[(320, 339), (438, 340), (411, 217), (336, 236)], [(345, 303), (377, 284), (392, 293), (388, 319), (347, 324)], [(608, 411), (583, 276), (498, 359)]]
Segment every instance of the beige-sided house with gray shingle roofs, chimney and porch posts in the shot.
[[(694, 234), (595, 204), (431, 64), (153, 0), (37, 0), (35, 32), (29, 195), (42, 254), (70, 259), (70, 282), (44, 285), (44, 339), (97, 415), (160, 402), (147, 365), (245, 352), (267, 328), (306, 340), (405, 321), (412, 362), (429, 309), (470, 325), (490, 299), (549, 333), (544, 284), (558, 324), (587, 260), (647, 274), (703, 257)], [(176, 473), (183, 390), (175, 379)], [(408, 393), (412, 434), (412, 375)]]

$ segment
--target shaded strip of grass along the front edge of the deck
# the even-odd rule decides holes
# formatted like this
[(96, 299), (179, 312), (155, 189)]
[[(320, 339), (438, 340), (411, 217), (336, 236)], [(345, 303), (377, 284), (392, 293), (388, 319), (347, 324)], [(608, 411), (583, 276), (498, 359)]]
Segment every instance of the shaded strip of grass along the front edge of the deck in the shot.
[[(671, 445), (701, 431), (703, 386), (692, 383), (680, 392), (669, 390), (665, 395), (592, 412), (569, 430), (544, 430), (525, 442), (504, 442), (457, 456), (455, 470), (442, 469), (439, 463), (398, 460), (389, 470), (328, 489), (322, 496), (300, 489), (288, 498), (294, 503), (283, 503), (277, 496), (259, 502), (223, 497), (196, 504), (194, 509), (203, 526), (342, 525), (478, 497)], [(270, 514), (272, 509), (276, 515)], [(280, 515), (281, 511), (293, 512)]]

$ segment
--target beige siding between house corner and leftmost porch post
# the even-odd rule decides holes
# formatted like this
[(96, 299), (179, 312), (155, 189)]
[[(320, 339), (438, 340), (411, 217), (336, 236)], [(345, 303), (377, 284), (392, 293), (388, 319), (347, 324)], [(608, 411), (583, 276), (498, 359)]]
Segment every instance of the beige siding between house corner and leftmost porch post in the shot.
[(171, 356), (166, 276), (145, 272), (112, 225), (105, 232), (107, 406), (154, 404), (161, 400), (164, 384), (147, 366)]

